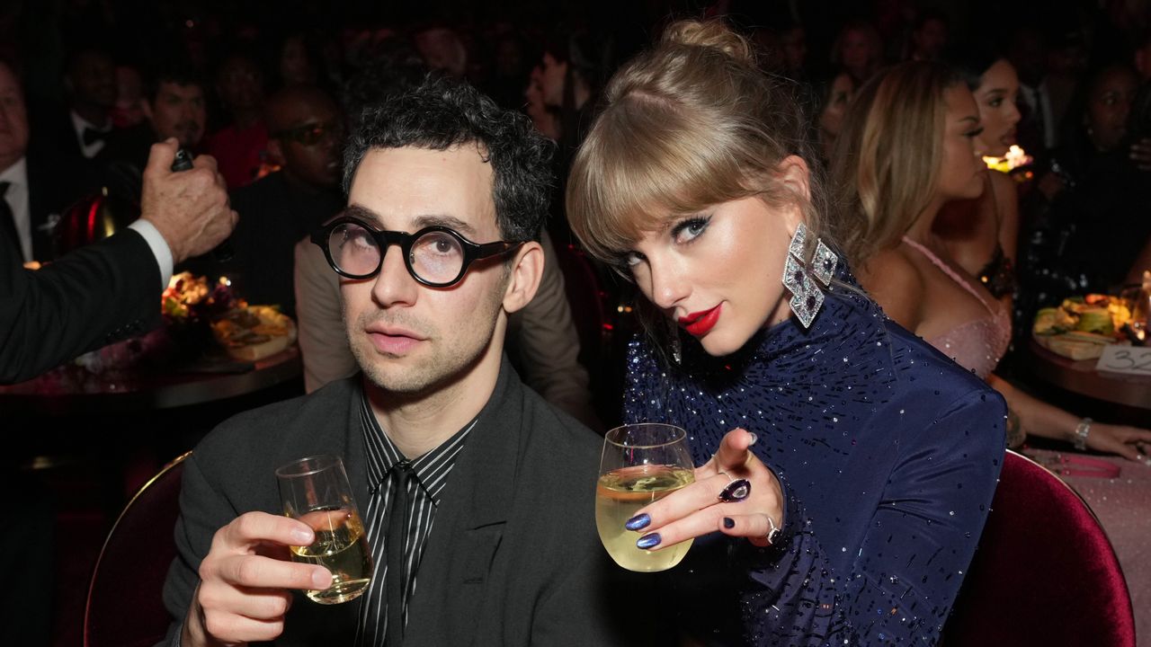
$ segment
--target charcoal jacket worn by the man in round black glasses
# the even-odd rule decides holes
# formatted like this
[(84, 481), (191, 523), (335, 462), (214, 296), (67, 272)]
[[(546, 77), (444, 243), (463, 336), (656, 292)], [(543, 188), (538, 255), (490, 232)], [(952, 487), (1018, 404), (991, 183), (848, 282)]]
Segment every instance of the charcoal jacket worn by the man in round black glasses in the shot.
[[(196, 448), (184, 467), (178, 556), (163, 592), (176, 622), (161, 645), (177, 644), (215, 531), (251, 510), (282, 512), (277, 466), (341, 455), (356, 500), (366, 507), (360, 379), (237, 416)], [(651, 577), (616, 566), (596, 535), (601, 442), (524, 387), (504, 360), (436, 512), (409, 601), (405, 647), (653, 639), (655, 617), (645, 616), (645, 604), (658, 597)], [(320, 606), (297, 594), (274, 645), (350, 646), (361, 601)]]

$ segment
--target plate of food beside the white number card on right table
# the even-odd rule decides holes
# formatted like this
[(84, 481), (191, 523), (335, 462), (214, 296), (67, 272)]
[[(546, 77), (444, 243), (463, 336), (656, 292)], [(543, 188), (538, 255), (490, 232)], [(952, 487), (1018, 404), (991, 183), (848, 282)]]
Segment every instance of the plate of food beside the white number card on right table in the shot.
[(1058, 307), (1035, 314), (1031, 337), (1043, 348), (1070, 359), (1098, 359), (1104, 347), (1123, 343), (1131, 319), (1127, 304), (1107, 295), (1064, 299)]

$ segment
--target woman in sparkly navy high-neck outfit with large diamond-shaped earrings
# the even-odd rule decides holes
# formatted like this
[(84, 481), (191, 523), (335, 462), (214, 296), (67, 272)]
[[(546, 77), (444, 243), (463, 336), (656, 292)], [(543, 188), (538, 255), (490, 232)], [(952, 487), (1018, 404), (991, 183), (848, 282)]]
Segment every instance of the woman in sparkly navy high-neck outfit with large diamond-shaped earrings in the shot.
[(661, 595), (709, 644), (932, 644), (1003, 402), (854, 286), (808, 123), (749, 52), (672, 24), (612, 78), (569, 178), (573, 230), (672, 329), (632, 342), (625, 418), (686, 427), (701, 465), (626, 527), (698, 538)]

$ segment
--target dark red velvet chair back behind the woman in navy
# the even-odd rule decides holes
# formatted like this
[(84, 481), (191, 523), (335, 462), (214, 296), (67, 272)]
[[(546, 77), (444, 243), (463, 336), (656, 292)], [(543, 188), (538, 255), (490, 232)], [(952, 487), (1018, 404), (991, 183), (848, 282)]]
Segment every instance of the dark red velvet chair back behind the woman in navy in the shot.
[(944, 626), (945, 647), (1134, 647), (1115, 551), (1087, 503), (1008, 451), (991, 513)]

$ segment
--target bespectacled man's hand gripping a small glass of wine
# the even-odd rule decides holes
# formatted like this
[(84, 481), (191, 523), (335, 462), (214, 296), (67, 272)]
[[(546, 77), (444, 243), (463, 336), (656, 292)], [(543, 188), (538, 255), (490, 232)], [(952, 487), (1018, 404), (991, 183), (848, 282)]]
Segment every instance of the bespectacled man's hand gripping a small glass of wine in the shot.
[(236, 646), (283, 633), (290, 589), (331, 585), (331, 573), (323, 566), (287, 561), (285, 547), (307, 546), (313, 539), (306, 524), (267, 512), (241, 515), (216, 531), (200, 562), (200, 585), (181, 645)]

